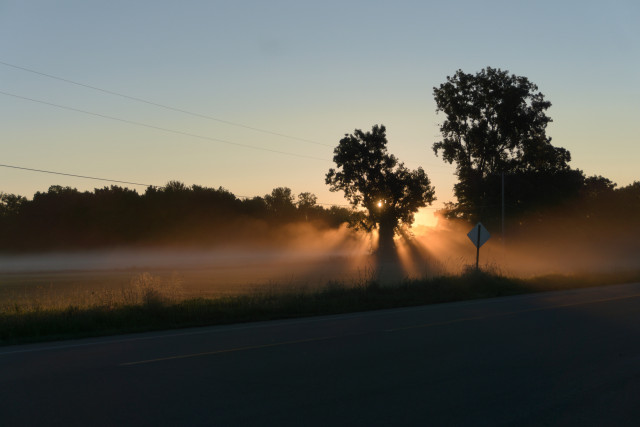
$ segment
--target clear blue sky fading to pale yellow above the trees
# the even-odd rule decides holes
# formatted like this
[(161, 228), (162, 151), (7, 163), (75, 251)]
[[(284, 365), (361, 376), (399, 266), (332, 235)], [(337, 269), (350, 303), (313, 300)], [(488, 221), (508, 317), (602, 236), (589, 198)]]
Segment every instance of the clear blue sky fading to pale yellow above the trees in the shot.
[[(0, 0), (0, 164), (345, 204), (324, 182), (333, 148), (384, 124), (435, 186), (429, 222), (456, 182), (431, 149), (433, 88), (491, 66), (538, 85), (574, 168), (624, 186), (640, 180), (638, 22), (635, 0)], [(2, 192), (51, 185), (111, 183), (0, 167)]]

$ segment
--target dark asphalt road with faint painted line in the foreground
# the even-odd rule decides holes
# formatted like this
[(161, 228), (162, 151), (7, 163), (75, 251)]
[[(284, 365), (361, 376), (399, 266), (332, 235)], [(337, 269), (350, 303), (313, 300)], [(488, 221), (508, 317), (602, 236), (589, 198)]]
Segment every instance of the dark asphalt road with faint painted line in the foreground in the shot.
[(640, 284), (3, 347), (0, 424), (635, 426)]

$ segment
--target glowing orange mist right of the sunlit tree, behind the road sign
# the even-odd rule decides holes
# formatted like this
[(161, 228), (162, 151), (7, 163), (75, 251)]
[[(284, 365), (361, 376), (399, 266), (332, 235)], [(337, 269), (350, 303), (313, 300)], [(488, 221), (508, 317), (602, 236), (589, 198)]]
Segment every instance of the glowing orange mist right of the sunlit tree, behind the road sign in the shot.
[[(475, 266), (476, 248), (467, 237), (472, 224), (439, 218), (435, 227), (416, 227), (414, 240), (450, 273)], [(621, 224), (573, 227), (564, 218), (522, 221), (489, 229), (480, 266), (512, 277), (577, 275), (640, 270), (640, 242)]]

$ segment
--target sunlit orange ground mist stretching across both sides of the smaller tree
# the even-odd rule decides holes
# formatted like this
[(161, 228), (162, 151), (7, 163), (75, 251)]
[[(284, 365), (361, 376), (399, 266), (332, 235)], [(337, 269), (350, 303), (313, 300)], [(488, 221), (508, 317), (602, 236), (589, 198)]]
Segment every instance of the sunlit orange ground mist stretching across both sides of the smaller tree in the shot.
[[(475, 266), (476, 249), (467, 238), (471, 228), (466, 222), (439, 218), (436, 226), (417, 226), (402, 233), (396, 239), (401, 268), (395, 279), (459, 274)], [(566, 227), (562, 221), (546, 221), (508, 229), (503, 240), (500, 230), (490, 229), (492, 238), (480, 250), (480, 266), (518, 277), (638, 270), (640, 244), (633, 233), (622, 230), (616, 225), (585, 231)], [(261, 236), (253, 238), (253, 233)], [(220, 287), (229, 290), (248, 285), (365, 283), (377, 279), (386, 268), (374, 256), (375, 233), (346, 226), (295, 223), (264, 233), (248, 224), (237, 236), (208, 247), (162, 245), (2, 255), (0, 273), (6, 279), (21, 274), (51, 277), (115, 272), (122, 276), (158, 272), (181, 275), (187, 286), (197, 282), (198, 289), (209, 293)]]

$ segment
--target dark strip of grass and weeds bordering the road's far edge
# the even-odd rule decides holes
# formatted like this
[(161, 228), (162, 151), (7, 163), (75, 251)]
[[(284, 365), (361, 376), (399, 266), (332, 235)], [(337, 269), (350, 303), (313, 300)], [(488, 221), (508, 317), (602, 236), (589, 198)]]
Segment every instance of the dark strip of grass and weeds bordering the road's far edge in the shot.
[[(194, 326), (409, 307), (530, 292), (640, 281), (640, 273), (507, 278), (469, 271), (459, 276), (406, 280), (396, 286), (329, 283), (315, 290), (255, 292), (215, 299), (173, 299), (151, 286), (135, 298), (80, 307), (19, 305), (0, 311), (0, 345)], [(149, 281), (147, 281), (149, 282)]]

